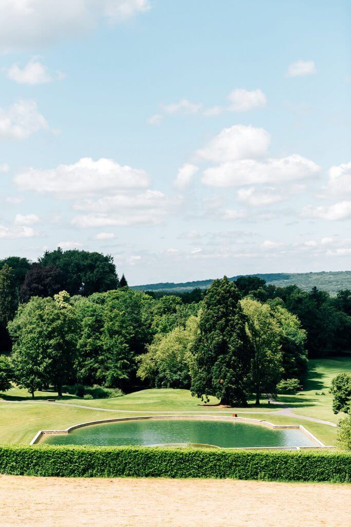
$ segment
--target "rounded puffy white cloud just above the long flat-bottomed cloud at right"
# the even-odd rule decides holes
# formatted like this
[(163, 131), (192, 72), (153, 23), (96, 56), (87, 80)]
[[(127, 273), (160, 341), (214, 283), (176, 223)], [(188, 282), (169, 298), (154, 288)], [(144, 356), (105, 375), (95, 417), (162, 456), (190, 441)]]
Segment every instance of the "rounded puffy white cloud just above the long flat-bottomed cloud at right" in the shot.
[(257, 158), (267, 152), (269, 143), (270, 135), (263, 128), (236, 124), (224, 128), (204, 148), (197, 150), (196, 154), (216, 163)]

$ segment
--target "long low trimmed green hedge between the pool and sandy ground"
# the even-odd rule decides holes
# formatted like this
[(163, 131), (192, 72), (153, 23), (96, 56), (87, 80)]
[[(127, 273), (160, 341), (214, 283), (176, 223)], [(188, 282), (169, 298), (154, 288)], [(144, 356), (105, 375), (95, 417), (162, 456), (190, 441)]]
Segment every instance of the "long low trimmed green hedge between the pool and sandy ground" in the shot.
[(1, 445), (0, 473), (65, 477), (216, 477), (351, 481), (351, 453), (141, 446)]

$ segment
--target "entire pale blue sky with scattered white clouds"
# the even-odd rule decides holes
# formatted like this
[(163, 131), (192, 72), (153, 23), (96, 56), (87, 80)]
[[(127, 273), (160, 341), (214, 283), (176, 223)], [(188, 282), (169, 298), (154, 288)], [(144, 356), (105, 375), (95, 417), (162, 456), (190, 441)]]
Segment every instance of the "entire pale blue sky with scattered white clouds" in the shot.
[(0, 258), (351, 269), (348, 0), (0, 3)]

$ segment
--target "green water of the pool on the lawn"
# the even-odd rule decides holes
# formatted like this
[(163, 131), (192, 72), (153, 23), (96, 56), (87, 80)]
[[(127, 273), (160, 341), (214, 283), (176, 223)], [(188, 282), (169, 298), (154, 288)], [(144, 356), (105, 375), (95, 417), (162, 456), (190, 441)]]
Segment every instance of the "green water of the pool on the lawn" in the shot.
[(274, 430), (238, 421), (198, 419), (141, 419), (76, 428), (68, 434), (44, 434), (52, 445), (157, 445), (202, 443), (220, 447), (316, 446), (302, 431)]

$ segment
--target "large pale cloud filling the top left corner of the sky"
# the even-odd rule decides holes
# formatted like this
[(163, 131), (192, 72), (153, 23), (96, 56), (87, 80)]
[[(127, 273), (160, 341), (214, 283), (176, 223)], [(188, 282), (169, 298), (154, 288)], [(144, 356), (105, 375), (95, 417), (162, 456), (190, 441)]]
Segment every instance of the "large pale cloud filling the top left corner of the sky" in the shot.
[(143, 13), (148, 0), (2, 0), (0, 51), (50, 44)]

